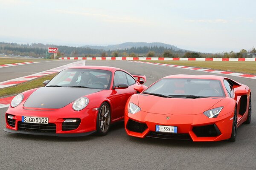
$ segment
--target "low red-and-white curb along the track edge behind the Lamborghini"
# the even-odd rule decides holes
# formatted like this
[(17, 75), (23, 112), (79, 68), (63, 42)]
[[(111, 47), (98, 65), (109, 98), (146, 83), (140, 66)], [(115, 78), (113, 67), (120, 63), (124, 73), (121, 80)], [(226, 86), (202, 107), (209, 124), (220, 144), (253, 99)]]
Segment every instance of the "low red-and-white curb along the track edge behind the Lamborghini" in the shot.
[(183, 68), (183, 69), (188, 69), (188, 70), (204, 71), (204, 72), (208, 72), (208, 73), (216, 73), (216, 74), (224, 74), (224, 75), (230, 75), (230, 76), (236, 76), (236, 77), (256, 79), (256, 75), (253, 75), (253, 74), (242, 74), (242, 73), (234, 73), (234, 72), (230, 72), (230, 71), (218, 71), (218, 70), (212, 70), (212, 69), (195, 68), (195, 67), (187, 67), (187, 66), (172, 65), (172, 64), (163, 64), (163, 63), (156, 63), (156, 62), (143, 62), (143, 61), (129, 61), (129, 62), (137, 62), (137, 63), (143, 63), (143, 64)]

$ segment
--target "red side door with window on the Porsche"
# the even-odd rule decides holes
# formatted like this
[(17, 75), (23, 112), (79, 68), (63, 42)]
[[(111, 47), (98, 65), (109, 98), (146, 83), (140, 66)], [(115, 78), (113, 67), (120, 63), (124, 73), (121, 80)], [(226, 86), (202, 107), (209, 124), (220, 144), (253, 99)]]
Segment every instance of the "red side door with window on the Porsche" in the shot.
[[(119, 83), (125, 83), (128, 88), (125, 89), (114, 89), (114, 87)], [(136, 80), (124, 71), (116, 71), (114, 74), (114, 82), (111, 96), (111, 103), (113, 107), (112, 121), (115, 122), (124, 117), (125, 104), (128, 98), (132, 94), (136, 94), (134, 90), (134, 85), (136, 85)]]

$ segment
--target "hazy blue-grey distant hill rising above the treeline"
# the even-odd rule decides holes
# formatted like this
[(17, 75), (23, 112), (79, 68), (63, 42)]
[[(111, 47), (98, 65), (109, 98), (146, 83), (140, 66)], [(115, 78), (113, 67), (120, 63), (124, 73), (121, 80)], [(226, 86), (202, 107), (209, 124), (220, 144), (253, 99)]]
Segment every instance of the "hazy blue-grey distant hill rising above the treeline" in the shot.
[(164, 48), (172, 48), (174, 51), (186, 51), (183, 50), (181, 48), (177, 48), (174, 45), (169, 45), (169, 44), (165, 44), (165, 43), (161, 43), (161, 42), (151, 42), (151, 43), (147, 43), (147, 42), (125, 42), (122, 44), (117, 44), (117, 45), (108, 45), (108, 46), (95, 46), (95, 45), (84, 45), (82, 47), (84, 48), (92, 48), (92, 49), (102, 49), (105, 51), (108, 50), (122, 50), (122, 49), (128, 49), (128, 48), (132, 48), (132, 47), (164, 47)]

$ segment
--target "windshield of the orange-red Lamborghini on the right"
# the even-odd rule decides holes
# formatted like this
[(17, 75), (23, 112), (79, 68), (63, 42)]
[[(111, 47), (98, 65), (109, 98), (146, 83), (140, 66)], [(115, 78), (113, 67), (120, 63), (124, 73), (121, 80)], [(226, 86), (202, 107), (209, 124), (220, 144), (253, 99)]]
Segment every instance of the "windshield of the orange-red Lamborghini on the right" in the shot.
[(161, 79), (143, 93), (165, 97), (202, 98), (225, 96), (221, 82), (213, 79)]

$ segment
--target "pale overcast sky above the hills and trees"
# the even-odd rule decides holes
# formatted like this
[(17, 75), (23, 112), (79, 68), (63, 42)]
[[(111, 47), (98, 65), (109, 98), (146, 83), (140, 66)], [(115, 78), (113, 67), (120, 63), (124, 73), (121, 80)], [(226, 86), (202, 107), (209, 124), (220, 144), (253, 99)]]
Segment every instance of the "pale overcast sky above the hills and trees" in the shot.
[(0, 0), (0, 42), (256, 47), (256, 0)]

